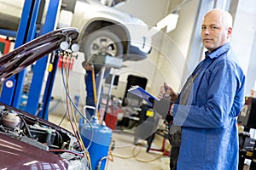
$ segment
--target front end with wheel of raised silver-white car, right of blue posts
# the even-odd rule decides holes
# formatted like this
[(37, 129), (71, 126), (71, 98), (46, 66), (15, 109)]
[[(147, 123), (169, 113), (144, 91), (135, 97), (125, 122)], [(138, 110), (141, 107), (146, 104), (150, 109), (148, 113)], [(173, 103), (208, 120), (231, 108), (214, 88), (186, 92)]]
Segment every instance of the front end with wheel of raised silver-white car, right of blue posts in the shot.
[(141, 60), (151, 50), (149, 28), (143, 20), (99, 0), (78, 0), (71, 26), (80, 30), (80, 51), (85, 60), (92, 54)]

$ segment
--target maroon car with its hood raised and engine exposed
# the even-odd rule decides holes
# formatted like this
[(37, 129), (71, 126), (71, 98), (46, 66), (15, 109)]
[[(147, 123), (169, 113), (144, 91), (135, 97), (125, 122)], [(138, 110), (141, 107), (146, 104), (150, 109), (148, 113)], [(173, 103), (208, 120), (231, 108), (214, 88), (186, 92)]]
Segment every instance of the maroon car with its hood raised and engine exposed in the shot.
[[(51, 31), (0, 58), (3, 82), (38, 59), (79, 37), (75, 28)], [(79, 140), (66, 129), (0, 103), (1, 169), (87, 169)]]

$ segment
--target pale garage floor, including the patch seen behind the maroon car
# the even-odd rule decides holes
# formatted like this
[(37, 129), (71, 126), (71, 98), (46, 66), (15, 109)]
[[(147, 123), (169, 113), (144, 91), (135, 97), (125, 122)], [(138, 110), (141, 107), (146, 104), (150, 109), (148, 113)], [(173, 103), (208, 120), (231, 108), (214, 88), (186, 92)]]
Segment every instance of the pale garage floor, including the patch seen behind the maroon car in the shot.
[[(49, 115), (49, 122), (59, 124), (61, 116)], [(71, 131), (68, 118), (61, 122), (61, 127)], [(146, 140), (139, 140), (139, 144), (134, 144), (134, 129), (115, 130), (113, 132), (114, 150), (112, 151), (113, 161), (108, 161), (106, 170), (167, 170), (169, 169), (169, 157), (163, 156), (160, 151), (149, 150), (147, 152)], [(163, 138), (155, 135), (151, 148), (160, 149)], [(166, 142), (166, 150), (170, 149), (169, 142)]]

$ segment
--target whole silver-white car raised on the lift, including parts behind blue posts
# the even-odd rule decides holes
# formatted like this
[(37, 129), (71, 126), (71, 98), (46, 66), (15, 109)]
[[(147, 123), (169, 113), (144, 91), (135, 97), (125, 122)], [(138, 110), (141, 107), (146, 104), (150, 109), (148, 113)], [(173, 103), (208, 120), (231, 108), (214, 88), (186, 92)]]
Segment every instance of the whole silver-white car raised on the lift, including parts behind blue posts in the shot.
[[(0, 29), (17, 30), (22, 2), (24, 1), (0, 0)], [(45, 2), (47, 7), (49, 0)], [(92, 54), (119, 56), (123, 61), (147, 58), (151, 50), (149, 28), (143, 20), (115, 8), (117, 3), (124, 2), (125, 0), (62, 0), (60, 20), (62, 18), (64, 22), (69, 22), (70, 17), (63, 17), (61, 14), (68, 9), (73, 12), (70, 26), (80, 30), (80, 51), (84, 52), (85, 61)], [(63, 27), (60, 24), (58, 26)]]

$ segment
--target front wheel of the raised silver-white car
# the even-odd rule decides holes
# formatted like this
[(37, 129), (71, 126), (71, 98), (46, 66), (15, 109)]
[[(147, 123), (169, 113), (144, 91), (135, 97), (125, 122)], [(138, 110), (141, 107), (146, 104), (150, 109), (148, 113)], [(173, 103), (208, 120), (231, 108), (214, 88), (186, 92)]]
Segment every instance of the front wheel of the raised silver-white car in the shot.
[(85, 61), (93, 54), (119, 56), (124, 52), (120, 38), (108, 29), (94, 31), (84, 37), (80, 43), (80, 50), (84, 52)]

